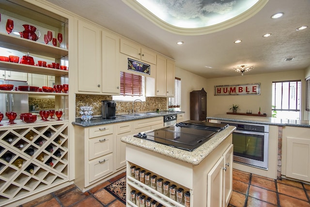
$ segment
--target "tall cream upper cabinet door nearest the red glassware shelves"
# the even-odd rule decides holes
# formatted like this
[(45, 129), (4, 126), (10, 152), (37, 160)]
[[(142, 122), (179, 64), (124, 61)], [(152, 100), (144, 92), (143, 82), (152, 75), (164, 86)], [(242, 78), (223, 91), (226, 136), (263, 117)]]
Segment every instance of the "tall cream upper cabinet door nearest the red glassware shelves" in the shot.
[(101, 91), (101, 30), (78, 21), (78, 91)]

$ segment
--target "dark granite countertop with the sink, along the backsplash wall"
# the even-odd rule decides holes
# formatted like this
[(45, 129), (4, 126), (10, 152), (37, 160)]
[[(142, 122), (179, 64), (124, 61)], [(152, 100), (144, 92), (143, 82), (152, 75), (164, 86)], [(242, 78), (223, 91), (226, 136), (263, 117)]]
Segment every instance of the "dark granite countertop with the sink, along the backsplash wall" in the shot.
[[(139, 113), (144, 113), (144, 112), (139, 112)], [(81, 127), (92, 127), (92, 126), (98, 126), (98, 125), (104, 125), (104, 124), (118, 123), (118, 122), (123, 122), (123, 121), (132, 121), (132, 120), (143, 119), (143, 118), (161, 117), (161, 116), (166, 116), (166, 115), (183, 114), (183, 113), (185, 112), (184, 111), (161, 111), (157, 114), (146, 115), (146, 116), (141, 116), (141, 117), (122, 117), (116, 114), (115, 119), (104, 119), (101, 117), (93, 117), (92, 120), (83, 121), (80, 118), (76, 118), (76, 121), (72, 122), (72, 124), (81, 126)]]

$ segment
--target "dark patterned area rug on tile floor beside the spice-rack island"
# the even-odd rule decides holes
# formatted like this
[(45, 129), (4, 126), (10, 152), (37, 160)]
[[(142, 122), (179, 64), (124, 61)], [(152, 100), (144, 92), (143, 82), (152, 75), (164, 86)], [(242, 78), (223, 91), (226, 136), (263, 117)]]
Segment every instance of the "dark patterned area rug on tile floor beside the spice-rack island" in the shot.
[(126, 176), (109, 184), (105, 189), (118, 200), (126, 204)]

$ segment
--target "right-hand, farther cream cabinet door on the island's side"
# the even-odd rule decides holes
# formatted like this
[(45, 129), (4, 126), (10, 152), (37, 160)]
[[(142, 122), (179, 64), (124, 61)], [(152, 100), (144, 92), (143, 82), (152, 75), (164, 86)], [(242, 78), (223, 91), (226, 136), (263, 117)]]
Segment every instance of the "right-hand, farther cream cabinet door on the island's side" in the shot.
[(223, 181), (223, 206), (227, 207), (233, 193), (233, 145), (223, 154), (224, 157), (224, 181)]

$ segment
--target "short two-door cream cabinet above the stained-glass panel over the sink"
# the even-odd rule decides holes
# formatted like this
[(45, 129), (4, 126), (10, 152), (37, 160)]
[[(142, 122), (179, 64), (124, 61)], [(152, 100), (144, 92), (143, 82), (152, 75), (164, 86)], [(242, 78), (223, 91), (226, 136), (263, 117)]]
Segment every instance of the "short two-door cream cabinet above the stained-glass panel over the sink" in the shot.
[(120, 52), (133, 57), (135, 60), (146, 61), (156, 65), (156, 52), (133, 41), (121, 38)]

